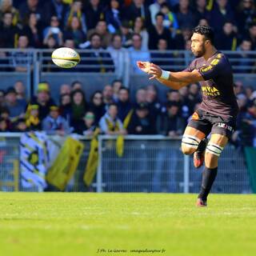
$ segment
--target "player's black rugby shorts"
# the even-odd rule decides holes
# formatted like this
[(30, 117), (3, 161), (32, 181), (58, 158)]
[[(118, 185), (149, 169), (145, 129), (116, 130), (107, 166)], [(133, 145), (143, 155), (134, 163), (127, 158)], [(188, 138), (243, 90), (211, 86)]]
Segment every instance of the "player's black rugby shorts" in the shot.
[(187, 126), (193, 127), (206, 134), (222, 134), (230, 138), (234, 132), (236, 117), (210, 114), (204, 110), (196, 110)]

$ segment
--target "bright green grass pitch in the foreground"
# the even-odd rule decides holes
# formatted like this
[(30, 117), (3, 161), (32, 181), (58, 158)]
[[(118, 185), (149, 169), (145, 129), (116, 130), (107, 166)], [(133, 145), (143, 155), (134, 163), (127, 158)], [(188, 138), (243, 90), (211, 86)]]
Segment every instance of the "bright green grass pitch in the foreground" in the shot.
[(195, 199), (0, 193), (0, 255), (256, 255), (255, 195), (212, 194), (207, 208)]

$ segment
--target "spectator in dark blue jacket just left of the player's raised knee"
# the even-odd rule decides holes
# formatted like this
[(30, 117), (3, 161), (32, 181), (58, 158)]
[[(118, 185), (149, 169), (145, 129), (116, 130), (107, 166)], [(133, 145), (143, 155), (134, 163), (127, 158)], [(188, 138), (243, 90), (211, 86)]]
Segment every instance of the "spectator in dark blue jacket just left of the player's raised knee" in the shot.
[(180, 105), (178, 102), (167, 103), (166, 115), (162, 120), (162, 134), (169, 137), (181, 136), (185, 130), (185, 119), (180, 116)]

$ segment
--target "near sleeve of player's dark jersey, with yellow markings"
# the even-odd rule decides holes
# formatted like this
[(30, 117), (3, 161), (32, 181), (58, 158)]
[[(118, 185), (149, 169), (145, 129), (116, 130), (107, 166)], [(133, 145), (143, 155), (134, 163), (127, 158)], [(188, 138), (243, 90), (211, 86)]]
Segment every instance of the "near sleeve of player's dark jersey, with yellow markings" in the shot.
[(209, 65), (202, 66), (198, 72), (202, 75), (205, 81), (216, 78), (218, 74), (225, 70), (226, 60), (221, 55), (217, 55)]

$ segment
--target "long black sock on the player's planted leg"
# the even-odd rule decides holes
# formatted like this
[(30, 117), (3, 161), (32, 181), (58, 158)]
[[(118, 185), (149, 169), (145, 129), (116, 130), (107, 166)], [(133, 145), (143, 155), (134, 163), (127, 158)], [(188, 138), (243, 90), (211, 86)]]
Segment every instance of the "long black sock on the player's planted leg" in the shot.
[(211, 186), (213, 186), (214, 184), (217, 172), (218, 167), (213, 169), (205, 168), (202, 171), (202, 186), (200, 193), (198, 194), (198, 198), (202, 198), (202, 200), (207, 200), (207, 196), (210, 193)]

